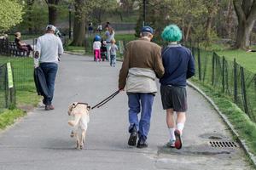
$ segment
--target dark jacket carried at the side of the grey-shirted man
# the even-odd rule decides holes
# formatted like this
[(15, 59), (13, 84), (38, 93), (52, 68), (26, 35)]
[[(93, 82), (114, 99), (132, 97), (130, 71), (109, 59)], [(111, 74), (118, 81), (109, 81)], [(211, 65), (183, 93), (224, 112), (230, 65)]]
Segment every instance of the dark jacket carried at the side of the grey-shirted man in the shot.
[(34, 70), (34, 82), (37, 88), (38, 95), (49, 98), (49, 89), (44, 77), (44, 72), (40, 67), (35, 68)]

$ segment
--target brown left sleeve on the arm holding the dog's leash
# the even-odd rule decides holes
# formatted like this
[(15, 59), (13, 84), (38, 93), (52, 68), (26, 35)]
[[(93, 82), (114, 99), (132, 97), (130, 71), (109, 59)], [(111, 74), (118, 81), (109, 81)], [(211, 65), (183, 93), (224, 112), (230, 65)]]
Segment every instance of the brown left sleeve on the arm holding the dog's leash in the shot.
[(126, 78), (129, 71), (130, 53), (129, 47), (125, 47), (124, 61), (121, 70), (119, 71), (119, 89), (125, 88)]

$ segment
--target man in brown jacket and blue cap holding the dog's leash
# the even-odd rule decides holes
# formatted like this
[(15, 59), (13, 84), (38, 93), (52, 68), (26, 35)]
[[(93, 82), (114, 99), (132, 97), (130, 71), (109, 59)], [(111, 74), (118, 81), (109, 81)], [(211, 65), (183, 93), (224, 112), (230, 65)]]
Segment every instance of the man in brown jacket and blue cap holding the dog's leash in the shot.
[[(119, 89), (126, 86), (129, 105), (129, 145), (137, 148), (148, 147), (147, 136), (154, 94), (157, 92), (156, 77), (164, 75), (161, 60), (161, 48), (154, 42), (154, 31), (150, 26), (144, 26), (141, 38), (127, 43), (125, 58), (119, 72)], [(137, 114), (141, 112), (141, 118)], [(137, 142), (137, 136), (139, 137)]]

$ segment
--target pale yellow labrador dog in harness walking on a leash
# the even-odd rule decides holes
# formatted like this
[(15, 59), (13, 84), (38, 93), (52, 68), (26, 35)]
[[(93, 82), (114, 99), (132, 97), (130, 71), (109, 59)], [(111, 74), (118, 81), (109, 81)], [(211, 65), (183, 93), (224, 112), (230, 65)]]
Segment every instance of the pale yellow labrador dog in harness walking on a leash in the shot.
[[(68, 124), (73, 127), (71, 137), (76, 138), (77, 149), (83, 149), (85, 143), (85, 134), (87, 125), (90, 121), (90, 106), (85, 103), (74, 102), (68, 106), (68, 115), (72, 116), (72, 120)], [(79, 132), (80, 135), (79, 135)]]

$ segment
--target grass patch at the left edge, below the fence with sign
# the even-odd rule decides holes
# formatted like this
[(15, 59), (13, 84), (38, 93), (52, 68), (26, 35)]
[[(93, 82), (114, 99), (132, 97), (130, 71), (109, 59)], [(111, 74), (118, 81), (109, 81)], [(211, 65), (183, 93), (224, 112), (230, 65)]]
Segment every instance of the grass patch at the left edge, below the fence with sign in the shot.
[(0, 114), (0, 129), (4, 129), (9, 125), (12, 125), (16, 119), (25, 116), (26, 112), (20, 109), (15, 110), (3, 110)]

